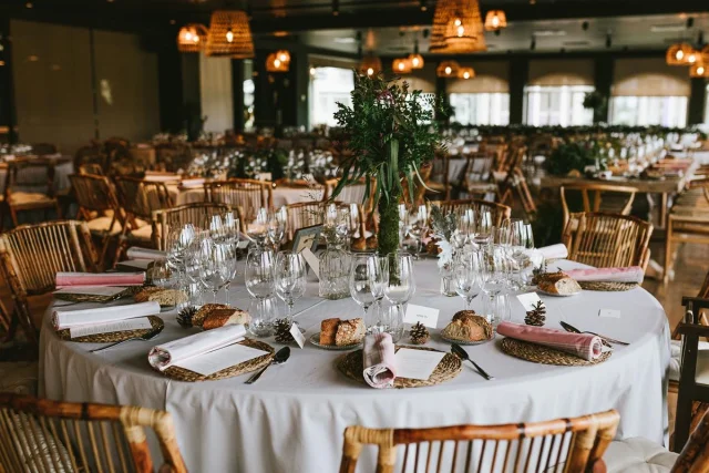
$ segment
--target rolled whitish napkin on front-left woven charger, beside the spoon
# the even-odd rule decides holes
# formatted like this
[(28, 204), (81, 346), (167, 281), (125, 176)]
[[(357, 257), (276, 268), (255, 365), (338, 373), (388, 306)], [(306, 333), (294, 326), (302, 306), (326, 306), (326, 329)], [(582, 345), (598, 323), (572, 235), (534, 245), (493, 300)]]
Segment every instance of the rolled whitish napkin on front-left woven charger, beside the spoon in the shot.
[(147, 361), (153, 368), (164, 371), (181, 361), (234, 345), (243, 340), (245, 335), (246, 328), (243, 325), (203, 331), (153, 347), (147, 354)]

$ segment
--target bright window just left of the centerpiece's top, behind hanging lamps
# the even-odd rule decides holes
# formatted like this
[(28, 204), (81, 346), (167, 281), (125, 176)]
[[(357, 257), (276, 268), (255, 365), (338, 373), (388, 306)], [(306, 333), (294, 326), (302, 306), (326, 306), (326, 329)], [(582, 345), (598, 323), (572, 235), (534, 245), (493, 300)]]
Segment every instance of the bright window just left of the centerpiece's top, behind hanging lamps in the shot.
[(310, 81), (310, 126), (337, 126), (337, 103), (351, 105), (354, 76), (349, 69), (314, 68)]

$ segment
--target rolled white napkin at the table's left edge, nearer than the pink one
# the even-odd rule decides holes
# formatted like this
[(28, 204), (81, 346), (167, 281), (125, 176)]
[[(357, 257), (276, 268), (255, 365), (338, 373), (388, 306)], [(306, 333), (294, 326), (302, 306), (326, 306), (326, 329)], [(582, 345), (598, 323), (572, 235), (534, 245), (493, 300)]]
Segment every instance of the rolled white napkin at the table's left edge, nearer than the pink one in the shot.
[(160, 304), (154, 301), (81, 310), (56, 309), (52, 312), (52, 325), (54, 330), (63, 330), (73, 327), (117, 322), (119, 320), (154, 316), (156, 313), (160, 313)]

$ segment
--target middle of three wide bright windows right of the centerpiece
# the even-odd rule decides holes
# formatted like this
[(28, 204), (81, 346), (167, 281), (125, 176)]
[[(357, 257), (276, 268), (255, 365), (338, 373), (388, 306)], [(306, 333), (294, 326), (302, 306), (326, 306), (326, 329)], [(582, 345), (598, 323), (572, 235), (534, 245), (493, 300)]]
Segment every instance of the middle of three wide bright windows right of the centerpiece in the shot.
[(527, 125), (590, 125), (594, 112), (584, 109), (584, 95), (592, 85), (527, 85), (524, 88)]

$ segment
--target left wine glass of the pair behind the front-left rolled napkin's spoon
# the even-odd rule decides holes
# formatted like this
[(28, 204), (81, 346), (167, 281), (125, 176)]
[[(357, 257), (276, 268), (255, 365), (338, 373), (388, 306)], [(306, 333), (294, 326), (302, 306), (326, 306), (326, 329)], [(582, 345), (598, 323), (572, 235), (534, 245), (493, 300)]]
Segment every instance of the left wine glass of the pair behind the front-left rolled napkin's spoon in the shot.
[(268, 248), (254, 247), (246, 256), (244, 269), (246, 290), (256, 298), (257, 316), (251, 319), (249, 330), (257, 337), (268, 337), (273, 333), (271, 316), (267, 310), (266, 300), (276, 291), (276, 265), (274, 251)]

